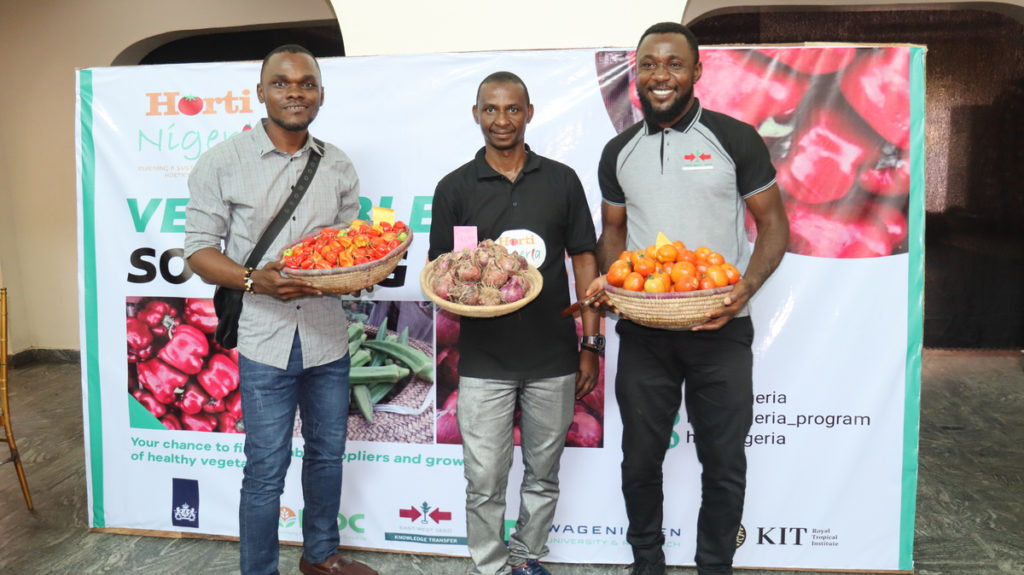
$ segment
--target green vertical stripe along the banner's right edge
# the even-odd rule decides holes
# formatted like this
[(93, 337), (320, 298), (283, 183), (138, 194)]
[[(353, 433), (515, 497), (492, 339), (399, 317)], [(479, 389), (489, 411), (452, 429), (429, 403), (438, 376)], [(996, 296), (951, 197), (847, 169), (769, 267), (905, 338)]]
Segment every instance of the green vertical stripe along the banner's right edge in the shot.
[(913, 569), (921, 428), (921, 353), (925, 317), (925, 48), (910, 47), (909, 269), (906, 302), (906, 389), (903, 398), (903, 486), (900, 497), (899, 568)]

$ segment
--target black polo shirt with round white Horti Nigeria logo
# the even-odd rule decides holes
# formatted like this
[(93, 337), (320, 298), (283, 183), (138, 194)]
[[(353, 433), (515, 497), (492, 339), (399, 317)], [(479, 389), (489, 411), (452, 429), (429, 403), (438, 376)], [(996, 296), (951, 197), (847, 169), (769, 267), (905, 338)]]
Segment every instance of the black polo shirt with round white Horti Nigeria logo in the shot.
[(593, 252), (594, 221), (580, 178), (571, 168), (526, 148), (514, 182), (484, 159), (444, 176), (431, 207), (431, 260), (453, 250), (454, 226), (476, 226), (477, 240), (494, 239), (518, 251), (544, 276), (536, 300), (501, 317), (463, 317), (459, 374), (525, 380), (574, 373), (579, 355), (569, 305), (565, 255)]

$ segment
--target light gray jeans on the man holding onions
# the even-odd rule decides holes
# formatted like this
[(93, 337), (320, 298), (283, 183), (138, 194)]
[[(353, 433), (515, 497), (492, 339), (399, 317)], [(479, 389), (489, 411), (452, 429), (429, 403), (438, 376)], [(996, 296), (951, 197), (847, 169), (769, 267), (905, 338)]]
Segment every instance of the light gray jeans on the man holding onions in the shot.
[[(506, 575), (548, 554), (558, 502), (558, 469), (572, 424), (575, 373), (545, 380), (459, 378), (456, 417), (466, 474), (471, 575)], [(505, 489), (512, 466), (516, 398), (521, 408), (523, 478), (519, 519), (505, 546)]]

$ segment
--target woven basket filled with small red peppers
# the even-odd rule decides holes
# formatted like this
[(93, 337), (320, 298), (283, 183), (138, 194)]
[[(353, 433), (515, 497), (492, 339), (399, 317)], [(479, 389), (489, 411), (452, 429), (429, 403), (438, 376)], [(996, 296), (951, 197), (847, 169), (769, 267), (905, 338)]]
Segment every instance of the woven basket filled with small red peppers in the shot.
[(402, 222), (354, 220), (345, 229), (324, 228), (282, 252), (285, 273), (326, 294), (351, 294), (383, 281), (413, 242)]

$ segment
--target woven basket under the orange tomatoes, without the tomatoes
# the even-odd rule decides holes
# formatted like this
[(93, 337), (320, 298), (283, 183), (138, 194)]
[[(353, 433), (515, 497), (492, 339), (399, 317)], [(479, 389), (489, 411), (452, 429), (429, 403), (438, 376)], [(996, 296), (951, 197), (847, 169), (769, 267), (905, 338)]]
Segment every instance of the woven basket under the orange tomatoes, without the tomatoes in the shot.
[(618, 313), (634, 323), (658, 329), (686, 329), (708, 320), (708, 312), (722, 307), (732, 285), (694, 292), (633, 292), (604, 283)]

